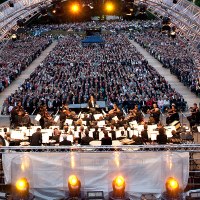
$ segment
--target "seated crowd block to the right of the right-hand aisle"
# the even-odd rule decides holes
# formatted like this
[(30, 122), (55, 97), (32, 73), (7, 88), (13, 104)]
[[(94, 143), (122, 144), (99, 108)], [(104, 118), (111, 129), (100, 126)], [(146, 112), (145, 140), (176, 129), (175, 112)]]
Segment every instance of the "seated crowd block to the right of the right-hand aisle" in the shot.
[[(159, 32), (159, 29), (141, 26), (142, 30), (134, 32), (134, 39), (158, 59), (163, 67), (169, 68), (172, 74), (188, 86), (197, 96), (200, 95), (199, 69), (195, 65), (190, 44), (179, 36), (171, 38)], [(198, 52), (195, 52), (199, 54)]]

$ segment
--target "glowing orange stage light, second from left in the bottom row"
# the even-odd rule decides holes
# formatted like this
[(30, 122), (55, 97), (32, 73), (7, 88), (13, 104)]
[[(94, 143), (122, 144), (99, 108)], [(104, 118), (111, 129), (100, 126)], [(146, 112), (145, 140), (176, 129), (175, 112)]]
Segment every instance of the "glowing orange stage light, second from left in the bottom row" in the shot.
[(80, 196), (81, 182), (75, 175), (70, 175), (68, 178), (69, 196), (77, 198)]

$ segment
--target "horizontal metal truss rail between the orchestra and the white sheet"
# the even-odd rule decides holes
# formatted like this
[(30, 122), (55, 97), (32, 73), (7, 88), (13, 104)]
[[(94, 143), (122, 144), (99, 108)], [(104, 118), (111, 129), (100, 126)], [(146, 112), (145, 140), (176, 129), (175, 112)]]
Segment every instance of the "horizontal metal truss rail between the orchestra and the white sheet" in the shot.
[(122, 145), (122, 146), (9, 146), (1, 147), (1, 152), (144, 152), (144, 151), (177, 151), (200, 152), (200, 144), (167, 144), (167, 145)]

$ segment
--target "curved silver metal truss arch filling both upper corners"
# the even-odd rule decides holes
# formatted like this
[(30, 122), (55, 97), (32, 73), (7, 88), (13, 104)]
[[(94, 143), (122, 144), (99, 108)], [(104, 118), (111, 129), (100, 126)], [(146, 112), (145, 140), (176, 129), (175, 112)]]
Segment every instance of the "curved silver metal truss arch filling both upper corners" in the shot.
[[(12, 7), (10, 5), (12, 3)], [(17, 21), (31, 19), (39, 14), (41, 8), (48, 7), (51, 0), (12, 0), (0, 5), (0, 40), (8, 32), (18, 28)], [(134, 4), (147, 4), (148, 9), (157, 16), (168, 16), (172, 23), (179, 28), (180, 35), (190, 42), (190, 52), (195, 58), (197, 67), (200, 67), (200, 8), (187, 0), (136, 0)]]

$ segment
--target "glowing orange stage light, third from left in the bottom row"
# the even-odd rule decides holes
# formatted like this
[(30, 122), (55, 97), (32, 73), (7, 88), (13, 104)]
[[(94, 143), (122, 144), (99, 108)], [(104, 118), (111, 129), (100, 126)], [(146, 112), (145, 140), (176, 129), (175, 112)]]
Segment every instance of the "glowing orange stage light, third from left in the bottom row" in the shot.
[(126, 199), (125, 198), (125, 180), (123, 176), (117, 176), (112, 182), (113, 192), (110, 199)]

